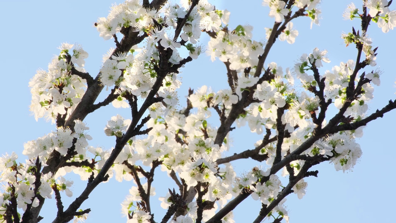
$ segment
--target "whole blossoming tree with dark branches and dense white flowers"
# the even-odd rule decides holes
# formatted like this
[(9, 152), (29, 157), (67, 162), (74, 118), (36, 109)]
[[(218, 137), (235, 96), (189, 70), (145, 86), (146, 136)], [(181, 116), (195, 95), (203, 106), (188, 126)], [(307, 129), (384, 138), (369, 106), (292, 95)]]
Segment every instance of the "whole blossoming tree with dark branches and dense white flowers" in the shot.
[[(294, 67), (268, 61), (276, 40), (293, 44), (298, 31), (292, 20), (309, 17), (318, 23), (319, 0), (264, 0), (273, 26), (265, 42), (252, 39), (252, 27), (228, 27), (227, 10), (206, 0), (131, 0), (112, 7), (95, 26), (115, 48), (96, 77), (84, 69), (88, 53), (81, 46), (61, 44), (59, 55), (38, 70), (29, 83), (30, 110), (37, 119), (56, 124), (51, 133), (25, 143), (25, 163), (10, 151), (0, 158), (0, 221), (38, 222), (47, 199), (55, 199), (53, 222), (83, 221), (90, 209), (84, 201), (107, 181), (134, 181), (122, 203), (128, 222), (234, 222), (232, 210), (251, 196), (261, 201), (253, 222), (289, 221), (286, 196), (303, 198), (312, 167), (329, 161), (348, 171), (362, 155), (355, 138), (370, 121), (396, 108), (390, 100), (367, 112), (373, 85), (380, 85), (376, 50), (367, 29), (372, 23), (386, 33), (396, 25), (392, 1), (370, 0), (362, 9), (350, 4), (344, 16), (360, 19), (361, 27), (343, 34), (346, 46), (356, 46), (356, 60), (334, 65), (326, 50), (305, 52)], [(312, 25), (312, 24), (311, 24)], [(208, 46), (198, 44), (209, 35)], [(225, 65), (228, 87), (218, 92), (202, 86), (188, 92), (179, 108), (180, 71), (206, 52)], [(185, 56), (183, 56), (185, 55)], [(187, 56), (188, 55), (188, 56)], [(100, 102), (101, 92), (108, 96)], [(110, 114), (104, 133), (115, 140), (111, 150), (89, 145), (92, 137), (84, 119), (104, 106), (125, 108), (129, 117)], [(331, 106), (337, 109), (329, 115)], [(217, 120), (216, 120), (217, 119)], [(245, 151), (230, 146), (230, 131), (248, 125), (262, 140)], [(364, 149), (364, 148), (363, 148)], [(226, 151), (234, 152), (225, 156)], [(252, 159), (263, 163), (236, 173), (232, 162)], [(174, 185), (155, 194), (154, 171), (161, 169)], [(87, 181), (74, 202), (64, 207), (61, 192), (73, 196), (73, 172)], [(281, 178), (282, 181), (281, 181)], [(165, 208), (154, 217), (153, 206)], [(52, 220), (52, 219), (51, 219)]]

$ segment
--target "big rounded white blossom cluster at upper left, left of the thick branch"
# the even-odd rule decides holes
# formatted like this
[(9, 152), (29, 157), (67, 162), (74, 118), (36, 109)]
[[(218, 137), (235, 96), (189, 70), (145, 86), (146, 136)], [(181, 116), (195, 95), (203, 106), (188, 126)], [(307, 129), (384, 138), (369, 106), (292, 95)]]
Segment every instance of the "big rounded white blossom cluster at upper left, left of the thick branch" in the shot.
[[(86, 80), (74, 71), (85, 72), (84, 59), (88, 57), (81, 46), (63, 43), (61, 53), (48, 65), (48, 71), (38, 70), (30, 80), (32, 94), (30, 111), (38, 118), (46, 117), (55, 123), (58, 115), (68, 117), (80, 102), (86, 89)], [(69, 54), (69, 50), (73, 54)], [(77, 66), (76, 66), (77, 65)]]

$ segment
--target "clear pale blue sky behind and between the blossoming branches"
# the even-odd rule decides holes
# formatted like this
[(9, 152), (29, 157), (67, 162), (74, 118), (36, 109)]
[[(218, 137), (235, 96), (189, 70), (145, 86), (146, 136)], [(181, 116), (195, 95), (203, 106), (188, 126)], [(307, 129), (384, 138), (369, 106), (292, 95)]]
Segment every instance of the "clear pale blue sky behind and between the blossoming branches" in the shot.
[[(268, 15), (268, 9), (261, 6), (261, 0), (236, 1), (236, 0), (213, 0), (217, 8), (227, 9), (231, 12), (230, 29), (239, 24), (253, 25), (253, 38), (265, 40), (264, 27), (272, 27), (274, 22)], [(342, 2), (342, 3), (341, 3)], [(360, 6), (361, 1), (354, 1)], [(99, 37), (93, 23), (98, 17), (106, 17), (109, 7), (114, 0), (102, 1), (1, 1), (0, 18), (2, 21), (2, 35), (0, 44), (0, 73), (2, 76), (2, 106), (0, 117), (2, 118), (2, 134), (0, 140), (0, 154), (15, 151), (19, 154), (19, 161), (23, 162), (21, 154), (23, 143), (34, 140), (55, 129), (51, 123), (44, 119), (38, 122), (30, 115), (30, 90), (28, 83), (36, 73), (36, 69), (47, 69), (53, 55), (58, 54), (57, 47), (62, 42), (71, 44), (78, 43), (89, 53), (85, 67), (87, 71), (96, 76), (101, 67), (102, 55), (114, 46), (112, 40), (105, 41)], [(121, 2), (117, 2), (119, 4)], [(309, 53), (315, 47), (329, 51), (331, 63), (325, 64), (322, 74), (326, 69), (331, 69), (340, 62), (356, 58), (356, 49), (353, 46), (345, 47), (340, 38), (341, 33), (348, 33), (352, 25), (358, 29), (358, 20), (345, 21), (341, 17), (349, 1), (324, 1), (322, 20), (320, 26), (310, 27), (308, 18), (299, 18), (293, 21), (294, 28), (299, 31), (295, 44), (277, 41), (267, 63), (276, 62), (284, 67), (292, 67), (293, 63), (303, 53)], [(394, 9), (394, 6), (390, 7)], [(394, 92), (394, 52), (396, 45), (392, 40), (396, 39), (396, 30), (386, 35), (381, 29), (373, 24), (369, 27), (369, 36), (373, 38), (373, 45), (379, 46), (377, 67), (383, 71), (381, 86), (375, 87), (375, 98), (369, 104), (371, 112), (385, 106), (389, 99), (396, 98)], [(203, 34), (203, 36), (205, 36)], [(208, 38), (202, 38), (201, 43), (206, 44)], [(265, 65), (267, 65), (267, 63)], [(210, 58), (202, 55), (186, 65), (183, 71), (183, 85), (179, 89), (181, 105), (185, 104), (184, 96), (188, 87), (197, 89), (202, 85), (211, 86), (215, 92), (227, 87), (226, 69), (219, 61), (210, 62)], [(371, 71), (370, 67), (366, 71)], [(107, 94), (106, 92), (105, 94)], [(101, 95), (104, 97), (104, 94)], [(114, 138), (105, 137), (103, 128), (107, 120), (117, 113), (126, 115), (127, 110), (103, 108), (99, 112), (88, 115), (85, 119), (91, 128), (89, 134), (93, 140), (92, 146), (103, 146), (110, 149), (114, 144)], [(321, 223), (350, 223), (350, 222), (392, 222), (394, 221), (394, 200), (396, 192), (393, 190), (394, 181), (394, 158), (396, 150), (394, 146), (394, 125), (396, 113), (390, 112), (383, 119), (375, 120), (364, 130), (364, 136), (358, 140), (363, 150), (363, 156), (353, 171), (342, 173), (335, 171), (333, 165), (322, 163), (317, 167), (319, 177), (310, 177), (307, 194), (302, 200), (297, 195), (291, 194), (285, 203), (291, 222), (321, 222)], [(328, 120), (329, 118), (327, 118)], [(242, 135), (241, 135), (242, 134)], [(259, 139), (257, 134), (250, 133), (248, 129), (235, 131), (233, 137), (234, 147), (231, 152), (240, 152), (253, 148), (254, 142)], [(248, 171), (256, 163), (240, 161), (236, 163), (236, 173), (240, 175)], [(78, 195), (86, 182), (78, 183), (78, 178), (67, 175), (68, 179), (74, 179), (74, 195)], [(76, 180), (77, 179), (77, 180)], [(152, 198), (152, 210), (156, 221), (160, 221), (165, 210), (160, 208), (160, 202), (156, 202), (158, 196), (164, 196), (168, 187), (166, 174), (156, 171), (154, 186), (157, 196)], [(121, 218), (120, 203), (128, 194), (132, 181), (118, 183), (114, 179), (110, 183), (102, 184), (91, 194), (89, 200), (84, 202), (82, 209), (91, 208), (90, 218), (87, 222), (125, 222)], [(67, 206), (72, 200), (66, 199), (63, 194), (64, 205)], [(73, 199), (74, 200), (74, 199)], [(47, 200), (42, 210), (43, 222), (50, 222), (55, 216), (55, 200)], [(258, 215), (260, 203), (251, 197), (247, 198), (236, 210), (234, 216), (236, 222), (251, 222)]]

